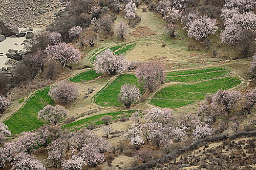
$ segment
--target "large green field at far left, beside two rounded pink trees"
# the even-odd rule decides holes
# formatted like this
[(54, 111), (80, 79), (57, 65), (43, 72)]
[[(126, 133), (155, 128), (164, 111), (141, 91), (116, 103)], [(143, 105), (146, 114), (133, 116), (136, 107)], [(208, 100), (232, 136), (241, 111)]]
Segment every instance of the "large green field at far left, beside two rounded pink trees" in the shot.
[(31, 131), (43, 126), (43, 121), (37, 119), (38, 111), (42, 110), (47, 104), (55, 104), (47, 95), (49, 89), (49, 87), (46, 87), (29, 97), (20, 110), (3, 122), (9, 127), (12, 134)]

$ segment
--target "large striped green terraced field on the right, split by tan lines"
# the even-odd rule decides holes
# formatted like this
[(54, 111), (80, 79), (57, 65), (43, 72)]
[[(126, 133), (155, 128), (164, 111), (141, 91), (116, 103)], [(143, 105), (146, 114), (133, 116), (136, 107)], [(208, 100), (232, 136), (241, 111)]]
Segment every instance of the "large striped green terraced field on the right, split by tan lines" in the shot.
[(175, 109), (205, 99), (206, 95), (218, 89), (230, 89), (241, 81), (230, 76), (225, 68), (173, 71), (167, 73), (167, 80), (188, 84), (170, 85), (157, 92), (149, 103), (159, 107)]

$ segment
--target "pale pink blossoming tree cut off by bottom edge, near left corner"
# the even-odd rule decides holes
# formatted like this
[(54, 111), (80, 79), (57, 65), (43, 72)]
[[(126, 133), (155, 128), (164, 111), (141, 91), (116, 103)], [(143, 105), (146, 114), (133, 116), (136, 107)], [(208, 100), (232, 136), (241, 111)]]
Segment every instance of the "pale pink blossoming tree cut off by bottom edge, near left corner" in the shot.
[(12, 170), (45, 170), (41, 161), (36, 160), (32, 155), (19, 153), (11, 163)]

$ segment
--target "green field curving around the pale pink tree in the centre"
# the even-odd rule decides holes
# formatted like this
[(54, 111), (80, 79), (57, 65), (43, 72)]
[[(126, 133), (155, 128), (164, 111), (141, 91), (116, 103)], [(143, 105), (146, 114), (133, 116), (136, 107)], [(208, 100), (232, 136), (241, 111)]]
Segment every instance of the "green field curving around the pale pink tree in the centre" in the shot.
[(129, 83), (137, 85), (140, 88), (141, 93), (143, 92), (142, 87), (137, 82), (137, 78), (132, 74), (120, 75), (112, 82), (107, 88), (103, 88), (95, 96), (95, 102), (101, 106), (120, 106), (122, 105), (117, 101), (117, 96), (120, 93), (122, 85)]

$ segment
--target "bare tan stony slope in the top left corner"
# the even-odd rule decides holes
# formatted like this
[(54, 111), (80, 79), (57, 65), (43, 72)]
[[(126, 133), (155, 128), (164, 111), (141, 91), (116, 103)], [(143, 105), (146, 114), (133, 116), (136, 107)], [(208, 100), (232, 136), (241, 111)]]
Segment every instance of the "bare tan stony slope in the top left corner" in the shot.
[(18, 27), (44, 27), (64, 8), (64, 0), (0, 0), (0, 19), (9, 17)]

